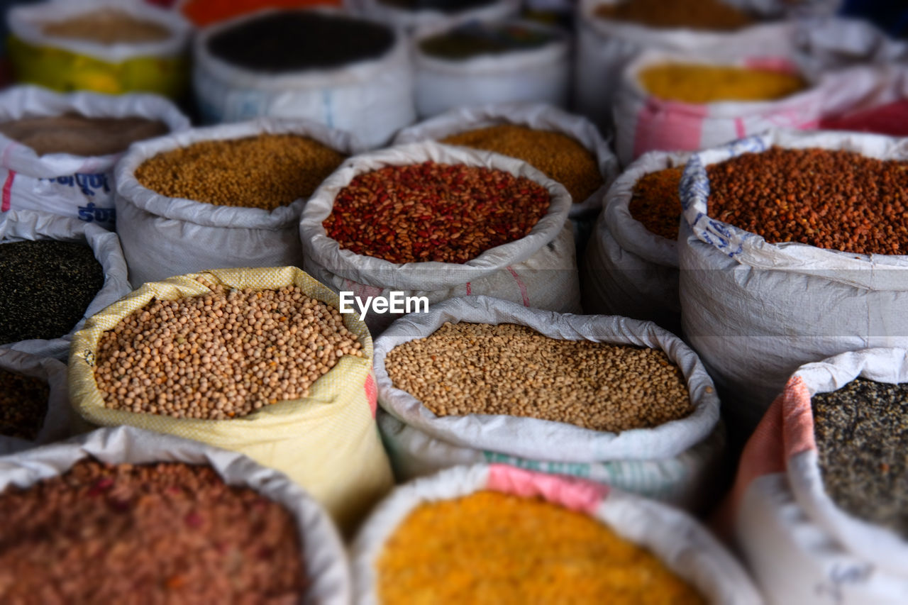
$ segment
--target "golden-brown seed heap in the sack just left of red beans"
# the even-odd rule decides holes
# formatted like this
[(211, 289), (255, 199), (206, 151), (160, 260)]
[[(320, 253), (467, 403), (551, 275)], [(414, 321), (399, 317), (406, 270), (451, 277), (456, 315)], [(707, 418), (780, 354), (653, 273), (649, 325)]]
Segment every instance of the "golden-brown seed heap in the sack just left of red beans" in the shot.
[(135, 178), (169, 197), (274, 210), (309, 198), (345, 159), (307, 136), (259, 134), (157, 154)]

